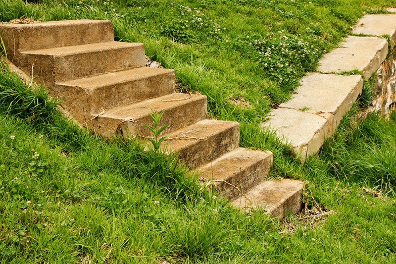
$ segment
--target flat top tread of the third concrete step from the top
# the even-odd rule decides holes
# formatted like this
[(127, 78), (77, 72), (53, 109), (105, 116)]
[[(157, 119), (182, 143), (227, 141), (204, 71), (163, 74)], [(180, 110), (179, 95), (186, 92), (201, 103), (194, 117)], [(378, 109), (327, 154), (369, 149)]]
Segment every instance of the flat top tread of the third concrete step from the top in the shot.
[(174, 70), (162, 69), (162, 68), (138, 67), (123, 71), (89, 76), (89, 77), (70, 80), (70, 81), (63, 81), (57, 84), (94, 90), (96, 88), (112, 86), (125, 82), (133, 82), (166, 73), (174, 73)]

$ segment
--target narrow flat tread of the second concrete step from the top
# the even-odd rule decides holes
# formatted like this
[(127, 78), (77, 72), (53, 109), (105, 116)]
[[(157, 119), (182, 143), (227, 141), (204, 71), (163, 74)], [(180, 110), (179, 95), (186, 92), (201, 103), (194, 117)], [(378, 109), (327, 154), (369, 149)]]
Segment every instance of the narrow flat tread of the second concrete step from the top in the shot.
[(117, 49), (140, 47), (140, 46), (144, 46), (143, 43), (107, 41), (107, 42), (91, 43), (91, 44), (76, 45), (76, 46), (58, 47), (52, 49), (24, 51), (22, 53), (36, 54), (36, 55), (51, 55), (51, 56), (68, 56), (74, 54), (102, 52), (108, 50), (117, 50)]

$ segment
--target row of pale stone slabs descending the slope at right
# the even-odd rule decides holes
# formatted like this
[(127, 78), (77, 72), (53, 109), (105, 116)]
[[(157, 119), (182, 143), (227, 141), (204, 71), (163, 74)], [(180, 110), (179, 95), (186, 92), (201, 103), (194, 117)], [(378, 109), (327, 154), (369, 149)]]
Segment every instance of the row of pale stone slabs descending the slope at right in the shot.
[[(396, 8), (390, 8), (396, 12)], [(317, 72), (302, 78), (293, 99), (275, 109), (263, 129), (274, 130), (290, 143), (304, 162), (319, 152), (341, 119), (362, 92), (368, 80), (384, 62), (388, 41), (396, 42), (396, 14), (370, 14), (361, 18), (339, 48), (319, 61)], [(352, 74), (359, 72), (360, 74)], [(345, 75), (341, 75), (345, 74)]]

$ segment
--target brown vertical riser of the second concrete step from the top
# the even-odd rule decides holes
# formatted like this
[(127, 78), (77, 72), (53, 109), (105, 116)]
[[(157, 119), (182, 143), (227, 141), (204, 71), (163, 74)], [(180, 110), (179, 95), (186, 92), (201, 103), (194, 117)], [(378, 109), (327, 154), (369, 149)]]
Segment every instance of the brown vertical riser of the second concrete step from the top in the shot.
[(49, 87), (56, 82), (145, 66), (143, 45), (65, 56), (26, 52), (22, 57), (22, 68), (31, 72), (34, 64), (36, 79)]

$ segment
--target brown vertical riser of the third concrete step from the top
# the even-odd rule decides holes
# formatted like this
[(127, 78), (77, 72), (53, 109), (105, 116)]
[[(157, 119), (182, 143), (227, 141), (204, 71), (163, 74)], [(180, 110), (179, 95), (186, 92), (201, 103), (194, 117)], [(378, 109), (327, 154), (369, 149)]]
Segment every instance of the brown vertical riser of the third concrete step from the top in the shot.
[[(55, 91), (63, 95), (62, 102), (71, 107), (79, 121), (105, 110), (132, 104), (174, 92), (175, 72), (169, 71), (150, 78), (128, 81), (90, 90), (78, 86), (56, 84)], [(78, 98), (79, 100), (76, 100)], [(85, 117), (84, 117), (85, 116)]]

